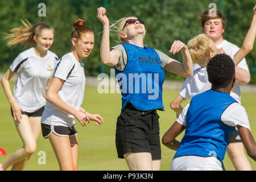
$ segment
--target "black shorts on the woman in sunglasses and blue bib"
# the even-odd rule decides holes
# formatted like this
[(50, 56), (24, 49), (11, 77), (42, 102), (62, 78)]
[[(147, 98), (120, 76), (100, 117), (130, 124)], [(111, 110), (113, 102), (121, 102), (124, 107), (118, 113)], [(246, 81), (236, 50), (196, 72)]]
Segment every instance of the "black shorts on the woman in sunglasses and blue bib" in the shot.
[(138, 111), (128, 104), (117, 118), (115, 146), (118, 158), (127, 152), (150, 152), (161, 159), (159, 115), (156, 110)]

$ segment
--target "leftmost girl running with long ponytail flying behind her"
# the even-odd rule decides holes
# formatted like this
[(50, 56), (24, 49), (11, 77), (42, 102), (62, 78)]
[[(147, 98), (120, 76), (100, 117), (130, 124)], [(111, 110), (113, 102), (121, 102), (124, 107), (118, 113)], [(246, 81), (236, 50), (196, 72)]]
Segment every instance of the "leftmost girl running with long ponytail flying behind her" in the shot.
[[(28, 21), (22, 23), (24, 27), (13, 28), (6, 35), (7, 46), (20, 44), (33, 47), (16, 57), (3, 75), (1, 83), (11, 105), (11, 114), (23, 147), (0, 164), (0, 170), (9, 166), (13, 166), (11, 170), (22, 170), (35, 152), (36, 141), (41, 133), (40, 119), (46, 104), (44, 97), (58, 59), (55, 53), (48, 50), (53, 43), (53, 28), (45, 23), (36, 26)], [(18, 73), (18, 78), (12, 94), (9, 81), (15, 73)]]

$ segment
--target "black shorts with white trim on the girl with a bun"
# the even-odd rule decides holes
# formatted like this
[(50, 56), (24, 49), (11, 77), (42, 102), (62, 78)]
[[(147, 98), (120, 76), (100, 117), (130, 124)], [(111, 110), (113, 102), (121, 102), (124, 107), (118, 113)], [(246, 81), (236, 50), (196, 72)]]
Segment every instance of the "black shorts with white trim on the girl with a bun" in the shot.
[(76, 125), (73, 125), (72, 127), (67, 127), (67, 126), (52, 126), (52, 125), (46, 125), (44, 123), (41, 123), (41, 127), (42, 127), (42, 134), (44, 138), (48, 138), (49, 135), (51, 135), (52, 133), (60, 137), (72, 137), (77, 135)]

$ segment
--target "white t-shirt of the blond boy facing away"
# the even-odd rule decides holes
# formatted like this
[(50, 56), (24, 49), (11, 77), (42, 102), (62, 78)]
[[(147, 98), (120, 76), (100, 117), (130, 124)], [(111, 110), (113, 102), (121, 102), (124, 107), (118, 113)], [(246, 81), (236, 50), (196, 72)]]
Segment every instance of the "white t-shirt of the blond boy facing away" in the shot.
[(186, 78), (179, 95), (185, 99), (190, 99), (195, 95), (205, 92), (212, 87), (208, 81), (207, 67), (197, 68), (193, 76)]

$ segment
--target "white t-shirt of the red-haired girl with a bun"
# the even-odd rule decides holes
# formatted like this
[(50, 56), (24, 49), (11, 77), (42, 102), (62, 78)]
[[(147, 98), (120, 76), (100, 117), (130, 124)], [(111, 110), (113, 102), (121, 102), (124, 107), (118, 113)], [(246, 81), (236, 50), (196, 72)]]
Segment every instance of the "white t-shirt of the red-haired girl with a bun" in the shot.
[[(85, 74), (84, 65), (79, 63), (71, 52), (57, 62), (53, 77), (64, 80), (58, 96), (69, 106), (80, 109), (84, 100)], [(75, 125), (75, 117), (47, 101), (41, 123), (53, 126)]]

